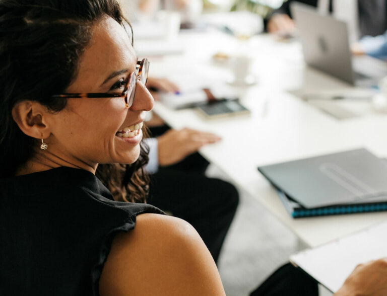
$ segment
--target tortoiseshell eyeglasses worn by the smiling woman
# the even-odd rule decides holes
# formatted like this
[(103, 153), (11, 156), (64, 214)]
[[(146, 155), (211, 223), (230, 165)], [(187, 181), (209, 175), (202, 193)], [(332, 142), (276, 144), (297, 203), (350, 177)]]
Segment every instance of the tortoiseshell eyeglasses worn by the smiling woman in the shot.
[(136, 71), (130, 73), (126, 86), (122, 93), (81, 93), (81, 94), (60, 94), (51, 98), (123, 98), (125, 107), (131, 108), (136, 93), (136, 84), (139, 81), (146, 86), (148, 81), (149, 61), (144, 58), (137, 62)]

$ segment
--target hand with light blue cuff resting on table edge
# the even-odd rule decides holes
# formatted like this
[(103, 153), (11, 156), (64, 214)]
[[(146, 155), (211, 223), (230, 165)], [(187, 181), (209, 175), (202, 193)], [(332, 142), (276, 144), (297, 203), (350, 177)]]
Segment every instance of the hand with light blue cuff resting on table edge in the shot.
[(215, 143), (221, 138), (210, 132), (189, 128), (170, 129), (157, 138), (159, 165), (169, 166), (182, 161), (188, 155), (197, 152), (200, 147)]

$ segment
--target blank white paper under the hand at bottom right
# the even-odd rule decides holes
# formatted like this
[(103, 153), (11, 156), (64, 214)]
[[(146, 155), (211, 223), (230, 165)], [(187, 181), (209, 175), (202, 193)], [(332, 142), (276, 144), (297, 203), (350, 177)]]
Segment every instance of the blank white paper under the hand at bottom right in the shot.
[(387, 221), (350, 236), (307, 249), (290, 257), (332, 292), (336, 292), (360, 263), (387, 257)]

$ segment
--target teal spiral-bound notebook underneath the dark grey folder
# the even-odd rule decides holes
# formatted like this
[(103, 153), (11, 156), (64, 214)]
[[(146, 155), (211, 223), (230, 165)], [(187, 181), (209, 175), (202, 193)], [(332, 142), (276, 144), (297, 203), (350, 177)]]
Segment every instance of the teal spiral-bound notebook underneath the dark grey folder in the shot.
[(295, 200), (292, 200), (281, 190), (278, 190), (278, 195), (282, 203), (284, 204), (286, 210), (293, 218), (354, 214), (387, 210), (387, 197), (385, 196), (376, 196), (368, 198), (366, 200), (366, 203), (361, 200), (355, 201), (351, 204), (306, 208), (300, 205)]

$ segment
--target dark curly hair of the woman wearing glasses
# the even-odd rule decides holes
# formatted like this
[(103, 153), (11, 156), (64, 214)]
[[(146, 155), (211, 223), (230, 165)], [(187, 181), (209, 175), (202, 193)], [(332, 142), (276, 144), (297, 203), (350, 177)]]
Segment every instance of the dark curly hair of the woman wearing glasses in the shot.
[[(104, 16), (133, 36), (116, 0), (0, 0), (0, 178), (14, 176), (38, 145), (17, 126), (12, 108), (26, 99), (53, 112), (66, 107), (66, 99), (50, 97), (75, 80), (92, 26)], [(142, 143), (134, 164), (99, 165), (96, 175), (116, 200), (145, 201), (147, 162)]]

